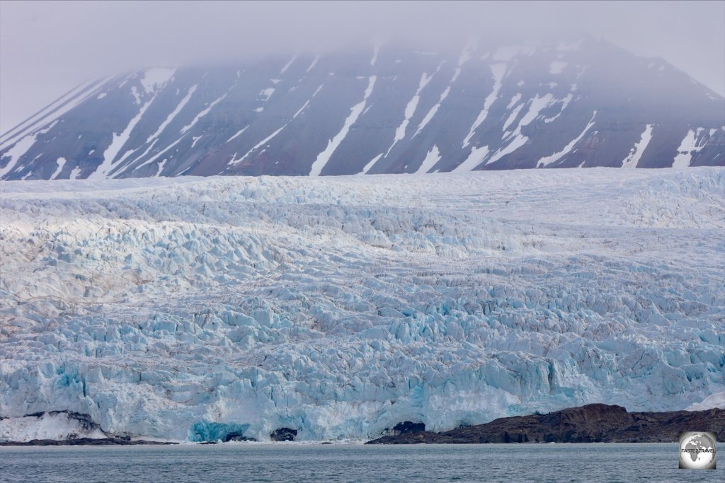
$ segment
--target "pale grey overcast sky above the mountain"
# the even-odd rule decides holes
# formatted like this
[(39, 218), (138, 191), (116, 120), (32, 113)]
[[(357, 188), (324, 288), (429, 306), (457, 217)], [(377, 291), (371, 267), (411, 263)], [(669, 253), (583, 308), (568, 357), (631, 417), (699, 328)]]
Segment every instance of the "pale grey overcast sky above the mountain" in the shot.
[(0, 133), (78, 83), (175, 66), (361, 41), (423, 47), (471, 35), (590, 33), (659, 56), (725, 95), (725, 1), (0, 0)]

